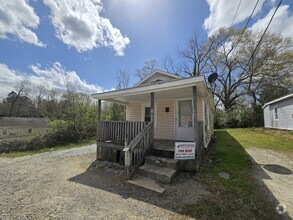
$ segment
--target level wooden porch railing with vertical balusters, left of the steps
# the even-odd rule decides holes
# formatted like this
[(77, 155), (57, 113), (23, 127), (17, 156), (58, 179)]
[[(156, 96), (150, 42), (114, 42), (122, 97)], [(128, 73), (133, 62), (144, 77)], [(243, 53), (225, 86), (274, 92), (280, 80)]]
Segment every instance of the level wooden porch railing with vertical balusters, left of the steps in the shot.
[(125, 139), (133, 140), (146, 125), (147, 122), (99, 121), (97, 140), (124, 145)]

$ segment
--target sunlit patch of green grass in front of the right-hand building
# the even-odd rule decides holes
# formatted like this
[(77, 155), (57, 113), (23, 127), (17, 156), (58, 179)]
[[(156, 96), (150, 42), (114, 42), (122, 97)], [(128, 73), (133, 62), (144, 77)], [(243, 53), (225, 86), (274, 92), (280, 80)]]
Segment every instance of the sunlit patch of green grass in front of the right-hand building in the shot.
[(264, 128), (227, 129), (244, 148), (257, 147), (276, 151), (293, 151), (293, 132)]

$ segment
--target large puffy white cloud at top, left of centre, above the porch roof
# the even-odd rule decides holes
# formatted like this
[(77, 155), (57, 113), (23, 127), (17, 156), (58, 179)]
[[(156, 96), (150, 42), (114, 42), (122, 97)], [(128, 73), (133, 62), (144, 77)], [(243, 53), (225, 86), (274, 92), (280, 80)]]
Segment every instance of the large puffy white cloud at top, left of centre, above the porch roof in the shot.
[(101, 0), (44, 0), (44, 3), (51, 10), (56, 36), (65, 44), (79, 52), (111, 47), (116, 55), (124, 55), (130, 40), (113, 27), (109, 19), (100, 16)]

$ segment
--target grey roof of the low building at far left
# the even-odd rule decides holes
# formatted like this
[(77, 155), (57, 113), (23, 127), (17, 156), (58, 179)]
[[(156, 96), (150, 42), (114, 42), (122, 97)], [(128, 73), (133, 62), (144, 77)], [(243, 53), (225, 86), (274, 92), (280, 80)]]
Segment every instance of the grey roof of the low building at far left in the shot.
[(45, 118), (0, 117), (0, 127), (48, 127)]

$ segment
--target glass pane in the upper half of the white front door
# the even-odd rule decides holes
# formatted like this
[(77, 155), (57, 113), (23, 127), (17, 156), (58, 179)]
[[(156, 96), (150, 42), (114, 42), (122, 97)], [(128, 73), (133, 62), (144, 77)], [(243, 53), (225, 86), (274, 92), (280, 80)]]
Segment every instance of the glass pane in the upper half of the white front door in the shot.
[(179, 127), (192, 127), (192, 102), (191, 100), (178, 102)]

